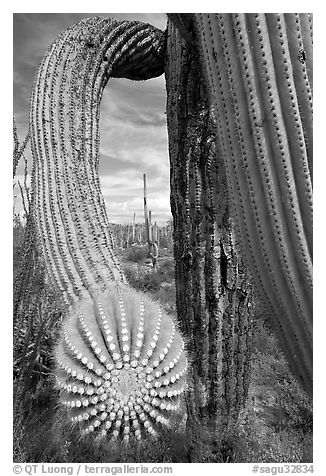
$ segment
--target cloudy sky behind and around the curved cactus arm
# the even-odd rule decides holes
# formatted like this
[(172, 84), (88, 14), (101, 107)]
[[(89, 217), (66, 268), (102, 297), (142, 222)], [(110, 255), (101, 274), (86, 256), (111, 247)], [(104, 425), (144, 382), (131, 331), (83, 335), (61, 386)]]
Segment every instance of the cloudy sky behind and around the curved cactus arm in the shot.
[[(91, 16), (139, 20), (162, 30), (166, 26), (163, 13), (14, 14), (14, 114), (21, 140), (26, 135), (31, 88), (42, 56), (61, 31)], [(143, 173), (153, 220), (165, 224), (170, 217), (165, 107), (164, 75), (143, 82), (112, 79), (106, 86), (101, 104), (100, 178), (111, 222), (128, 223), (134, 212), (137, 222), (143, 220)], [(22, 163), (17, 173), (21, 178)]]

